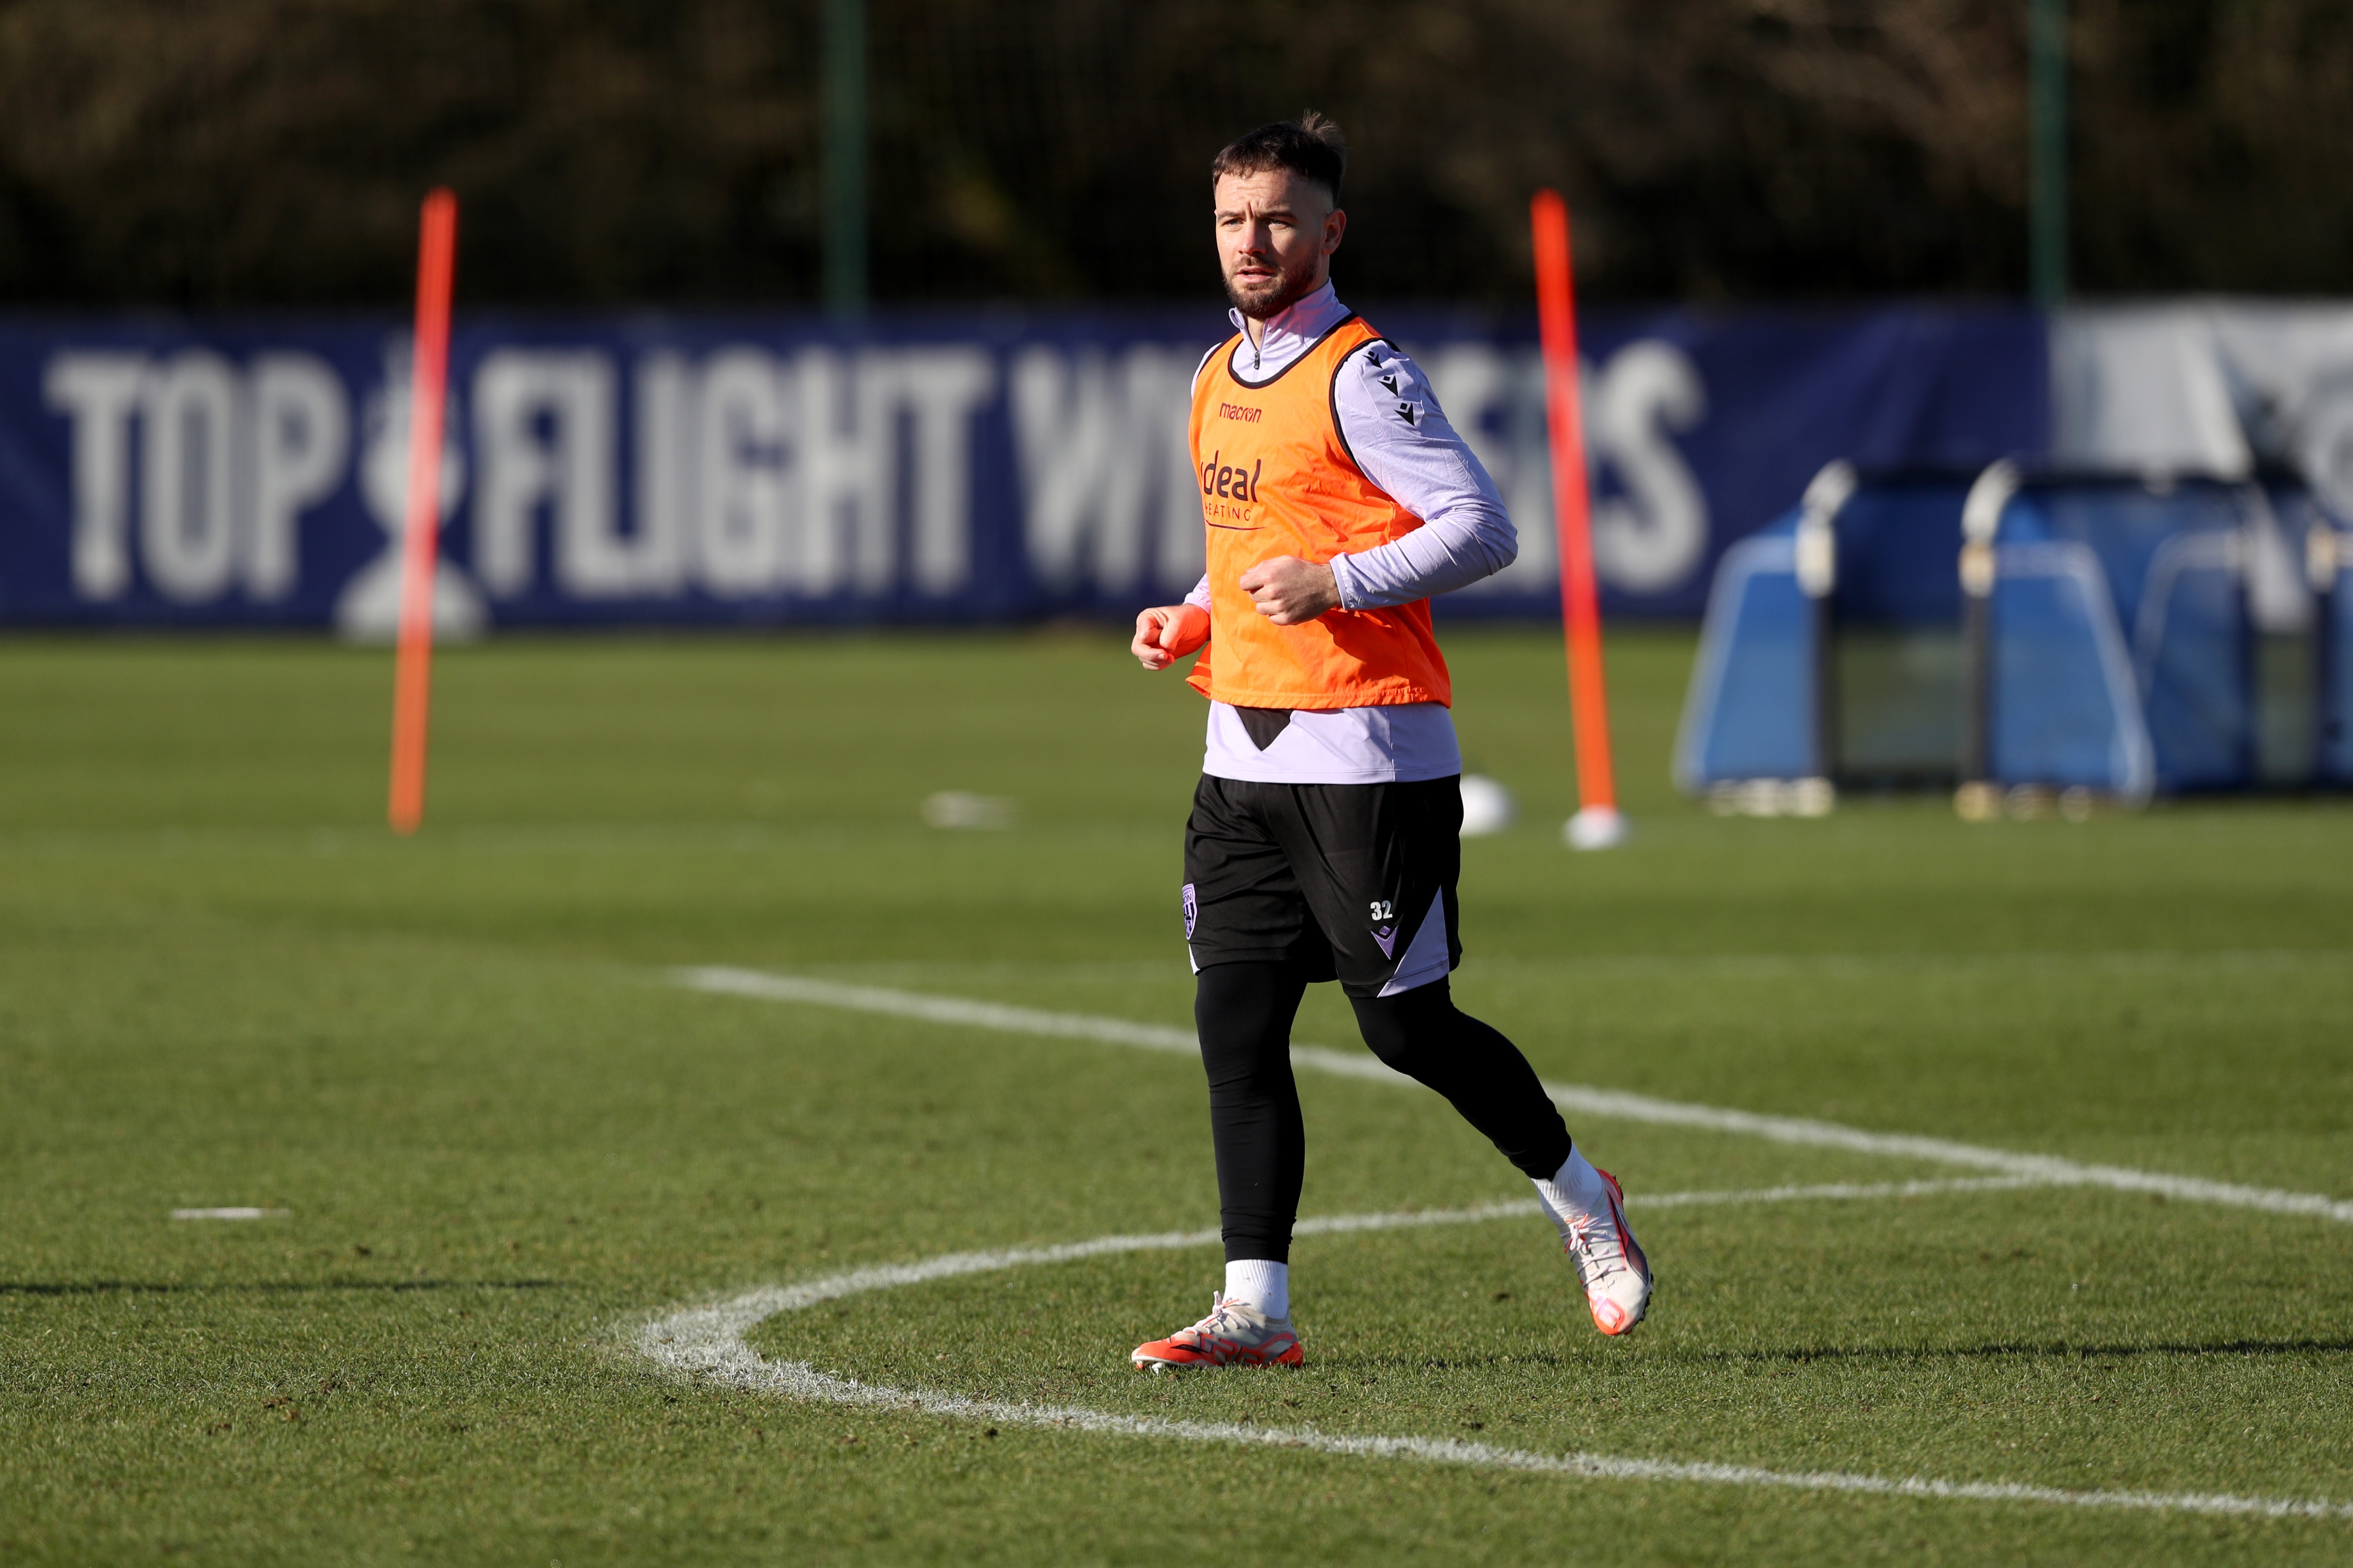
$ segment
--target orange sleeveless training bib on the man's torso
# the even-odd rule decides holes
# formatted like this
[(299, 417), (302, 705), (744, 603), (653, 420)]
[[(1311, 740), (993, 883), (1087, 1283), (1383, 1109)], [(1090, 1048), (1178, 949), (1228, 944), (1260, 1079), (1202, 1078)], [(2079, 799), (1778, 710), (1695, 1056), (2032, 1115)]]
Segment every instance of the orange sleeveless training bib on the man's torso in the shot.
[(1358, 470), (1339, 433), (1332, 383), (1351, 353), (1379, 341), (1353, 315), (1259, 386), (1233, 374), (1233, 341), (1200, 371), (1193, 473), (1209, 527), (1209, 646), (1186, 679), (1219, 703), (1325, 710), (1454, 696), (1428, 599), (1275, 625), (1240, 588), (1259, 562), (1329, 562), (1421, 527)]

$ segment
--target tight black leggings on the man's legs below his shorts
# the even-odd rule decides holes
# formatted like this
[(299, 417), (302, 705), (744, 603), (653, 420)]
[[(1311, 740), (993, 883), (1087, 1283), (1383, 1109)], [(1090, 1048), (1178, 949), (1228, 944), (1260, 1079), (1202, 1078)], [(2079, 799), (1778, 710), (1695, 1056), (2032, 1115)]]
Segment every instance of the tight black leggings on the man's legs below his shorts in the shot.
[[(1294, 964), (1212, 964), (1195, 976), (1193, 1023), (1209, 1070), (1209, 1135), (1226, 1260), (1292, 1255), (1299, 1185), (1308, 1164), (1292, 1018), (1306, 994)], [(1569, 1128), (1520, 1048), (1459, 1011), (1445, 980), (1395, 997), (1348, 997), (1372, 1053), (1428, 1084), (1504, 1159), (1548, 1178), (1569, 1157)]]

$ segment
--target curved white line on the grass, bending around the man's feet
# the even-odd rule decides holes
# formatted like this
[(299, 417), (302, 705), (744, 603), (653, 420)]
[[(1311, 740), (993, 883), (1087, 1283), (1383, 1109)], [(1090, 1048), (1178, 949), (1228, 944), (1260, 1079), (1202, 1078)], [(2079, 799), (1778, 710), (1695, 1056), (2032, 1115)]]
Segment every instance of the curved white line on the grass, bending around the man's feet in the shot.
[[(1753, 1192), (1668, 1192), (1647, 1201), (1649, 1208), (1692, 1204), (1758, 1204), (1791, 1199), (1859, 1199), (1929, 1192), (1988, 1192), (2002, 1187), (2047, 1185), (2031, 1178), (1894, 1182), (1885, 1187), (1765, 1187)], [(1628, 1199), (1633, 1201), (1633, 1199)], [(1478, 1220), (1534, 1215), (1534, 1201), (1487, 1204), (1480, 1208), (1440, 1208), (1407, 1213), (1358, 1213), (1301, 1220), (1297, 1234), (1329, 1237), (1362, 1229), (1402, 1229), (1419, 1225), (1468, 1225)], [(767, 1361), (744, 1335), (779, 1312), (798, 1312), (816, 1302), (894, 1291), (958, 1274), (993, 1274), (1042, 1262), (1073, 1262), (1106, 1253), (1153, 1253), (1214, 1246), (1214, 1229), (1167, 1232), (1158, 1237), (1096, 1237), (1066, 1246), (1031, 1246), (1002, 1253), (948, 1253), (925, 1262), (880, 1265), (828, 1274), (798, 1286), (765, 1286), (711, 1307), (689, 1307), (638, 1331), (638, 1349), (659, 1366), (725, 1382), (739, 1389), (786, 1394), (847, 1406), (885, 1406), (922, 1415), (991, 1420), (1007, 1427), (1059, 1427), (1064, 1432), (1104, 1432), (1113, 1436), (1153, 1436), (1188, 1443), (1249, 1443), (1259, 1448), (1301, 1448), (1367, 1460), (1424, 1460), (1431, 1465), (1478, 1465), (1598, 1481), (1697, 1481), (1706, 1486), (1767, 1486), (1805, 1493), (1868, 1493), (1882, 1497), (1937, 1497), (1951, 1502), (2035, 1502), (2082, 1509), (2139, 1509), (2162, 1514), (2247, 1514), (2259, 1519), (2353, 1519), (2353, 1502), (2301, 1497), (2235, 1497), (2228, 1493), (2078, 1493), (2054, 1486), (2012, 1481), (1934, 1481), (1925, 1476), (1866, 1476), (1840, 1469), (1760, 1469), (1755, 1465), (1687, 1465), (1675, 1460), (1628, 1460), (1607, 1453), (1534, 1453), (1431, 1436), (1344, 1436), (1315, 1427), (1254, 1427), (1240, 1422), (1160, 1420), (1151, 1415), (1111, 1415), (1080, 1406), (1033, 1406), (993, 1399), (967, 1399), (934, 1389), (892, 1389), (854, 1378), (821, 1373), (807, 1361)]]

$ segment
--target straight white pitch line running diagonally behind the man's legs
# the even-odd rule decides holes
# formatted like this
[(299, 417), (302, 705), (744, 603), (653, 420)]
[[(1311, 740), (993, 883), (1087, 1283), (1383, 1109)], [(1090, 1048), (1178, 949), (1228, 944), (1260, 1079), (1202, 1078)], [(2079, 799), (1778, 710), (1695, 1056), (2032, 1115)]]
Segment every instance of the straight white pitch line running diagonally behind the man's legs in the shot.
[[(809, 1006), (889, 1013), (896, 1018), (920, 1018), (925, 1023), (965, 1025), (974, 1030), (1002, 1030), (1007, 1034), (1054, 1034), (1064, 1039), (1094, 1039), (1113, 1046), (1139, 1046), (1146, 1051), (1181, 1051), (1186, 1056), (1200, 1053), (1200, 1041), (1191, 1030), (1132, 1023), (1127, 1018), (1047, 1013), (1028, 1006), (1005, 1006), (1000, 1001), (929, 997), (922, 992), (882, 990), (875, 985), (838, 985), (833, 980), (774, 976), (755, 969), (675, 969), (671, 971), (671, 978), (689, 990), (720, 992), (729, 997), (760, 997), (762, 1001), (800, 1001)], [(1372, 1053), (1346, 1053), (1332, 1051), (1329, 1046), (1292, 1046), (1292, 1065), (1348, 1079), (1414, 1084), (1414, 1079), (1395, 1072)], [(1553, 1095), (1553, 1103), (1560, 1105), (1560, 1110), (1584, 1117), (1612, 1117), (1617, 1121), (1649, 1121), (1659, 1126), (1694, 1126), (1711, 1133), (1739, 1133), (1746, 1138), (1769, 1138), (1772, 1143), (1847, 1150), (1849, 1154), (1882, 1154), (1889, 1159), (1920, 1159), (1944, 1166), (2000, 1171), (2002, 1175), (2017, 1175), (2047, 1187), (2155, 1192), (2184, 1204), (2264, 1208), (2271, 1213), (2299, 1213), (2318, 1220), (2337, 1220), (2339, 1225), (2353, 1225), (2353, 1201), (2332, 1199), (2318, 1192), (2242, 1187), (2238, 1182), (2209, 1182), (2195, 1175), (2165, 1175), (2160, 1171), (2132, 1171), (2127, 1166), (2089, 1166), (2073, 1159), (2059, 1159), (2057, 1154), (2017, 1154), (2012, 1150), (1988, 1150), (1972, 1143), (1951, 1143), (1946, 1138), (1920, 1138), (1915, 1133), (1868, 1133), (1859, 1126), (1840, 1126), (1838, 1121), (1765, 1117), (1746, 1110), (1659, 1100), (1619, 1088), (1595, 1088), (1591, 1084), (1546, 1084), (1544, 1091)]]

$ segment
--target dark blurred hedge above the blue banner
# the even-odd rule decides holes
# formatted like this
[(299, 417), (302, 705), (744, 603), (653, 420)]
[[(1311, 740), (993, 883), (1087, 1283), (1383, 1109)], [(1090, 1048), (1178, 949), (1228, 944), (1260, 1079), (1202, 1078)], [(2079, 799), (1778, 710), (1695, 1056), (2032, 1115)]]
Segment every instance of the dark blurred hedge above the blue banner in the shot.
[[(880, 301), (1214, 287), (1205, 165), (1348, 129), (1365, 299), (2017, 294), (2026, 0), (873, 0)], [(2353, 287), (2353, 5), (2075, 0), (2075, 282)], [(816, 0), (0, 0), (0, 306), (812, 303)]]

